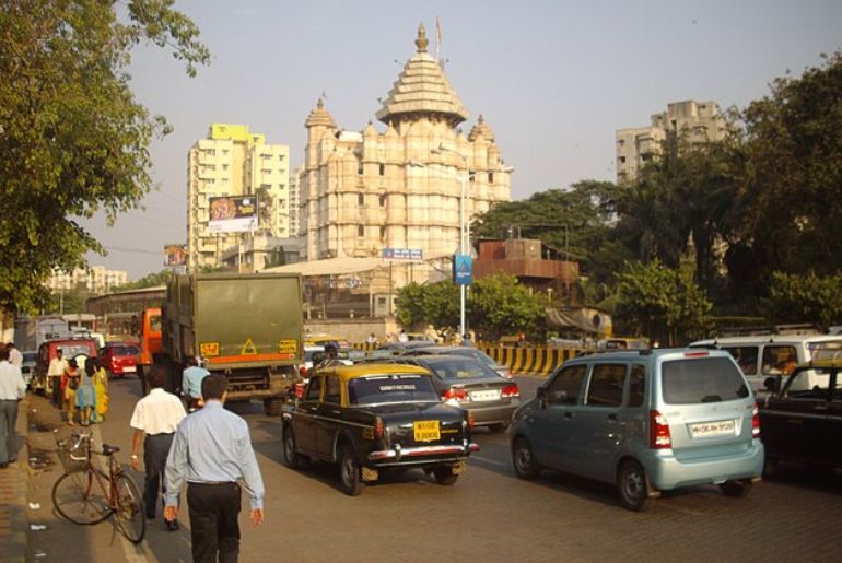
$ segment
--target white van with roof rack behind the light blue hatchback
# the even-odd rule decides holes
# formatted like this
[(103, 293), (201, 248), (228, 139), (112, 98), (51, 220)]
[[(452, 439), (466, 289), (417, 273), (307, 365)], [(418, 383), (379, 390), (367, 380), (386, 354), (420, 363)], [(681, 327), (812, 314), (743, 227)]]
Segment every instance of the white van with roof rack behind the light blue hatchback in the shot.
[[(690, 348), (718, 348), (730, 352), (746, 375), (751, 388), (764, 389), (763, 382), (770, 376), (790, 375), (796, 364), (814, 360), (815, 352), (827, 348), (842, 348), (842, 336), (828, 335), (762, 335), (723, 337), (692, 342)], [(814, 385), (827, 385), (827, 374), (810, 372), (799, 378), (806, 389)]]

